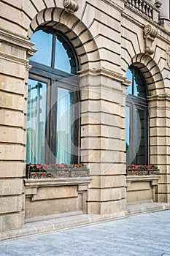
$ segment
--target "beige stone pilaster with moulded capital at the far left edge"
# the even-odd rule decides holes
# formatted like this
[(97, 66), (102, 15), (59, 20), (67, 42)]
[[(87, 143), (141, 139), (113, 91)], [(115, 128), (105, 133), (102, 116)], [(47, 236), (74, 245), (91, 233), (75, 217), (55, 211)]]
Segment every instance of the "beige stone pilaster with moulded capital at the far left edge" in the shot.
[(19, 228), (25, 217), (27, 58), (32, 45), (0, 30), (0, 232)]

